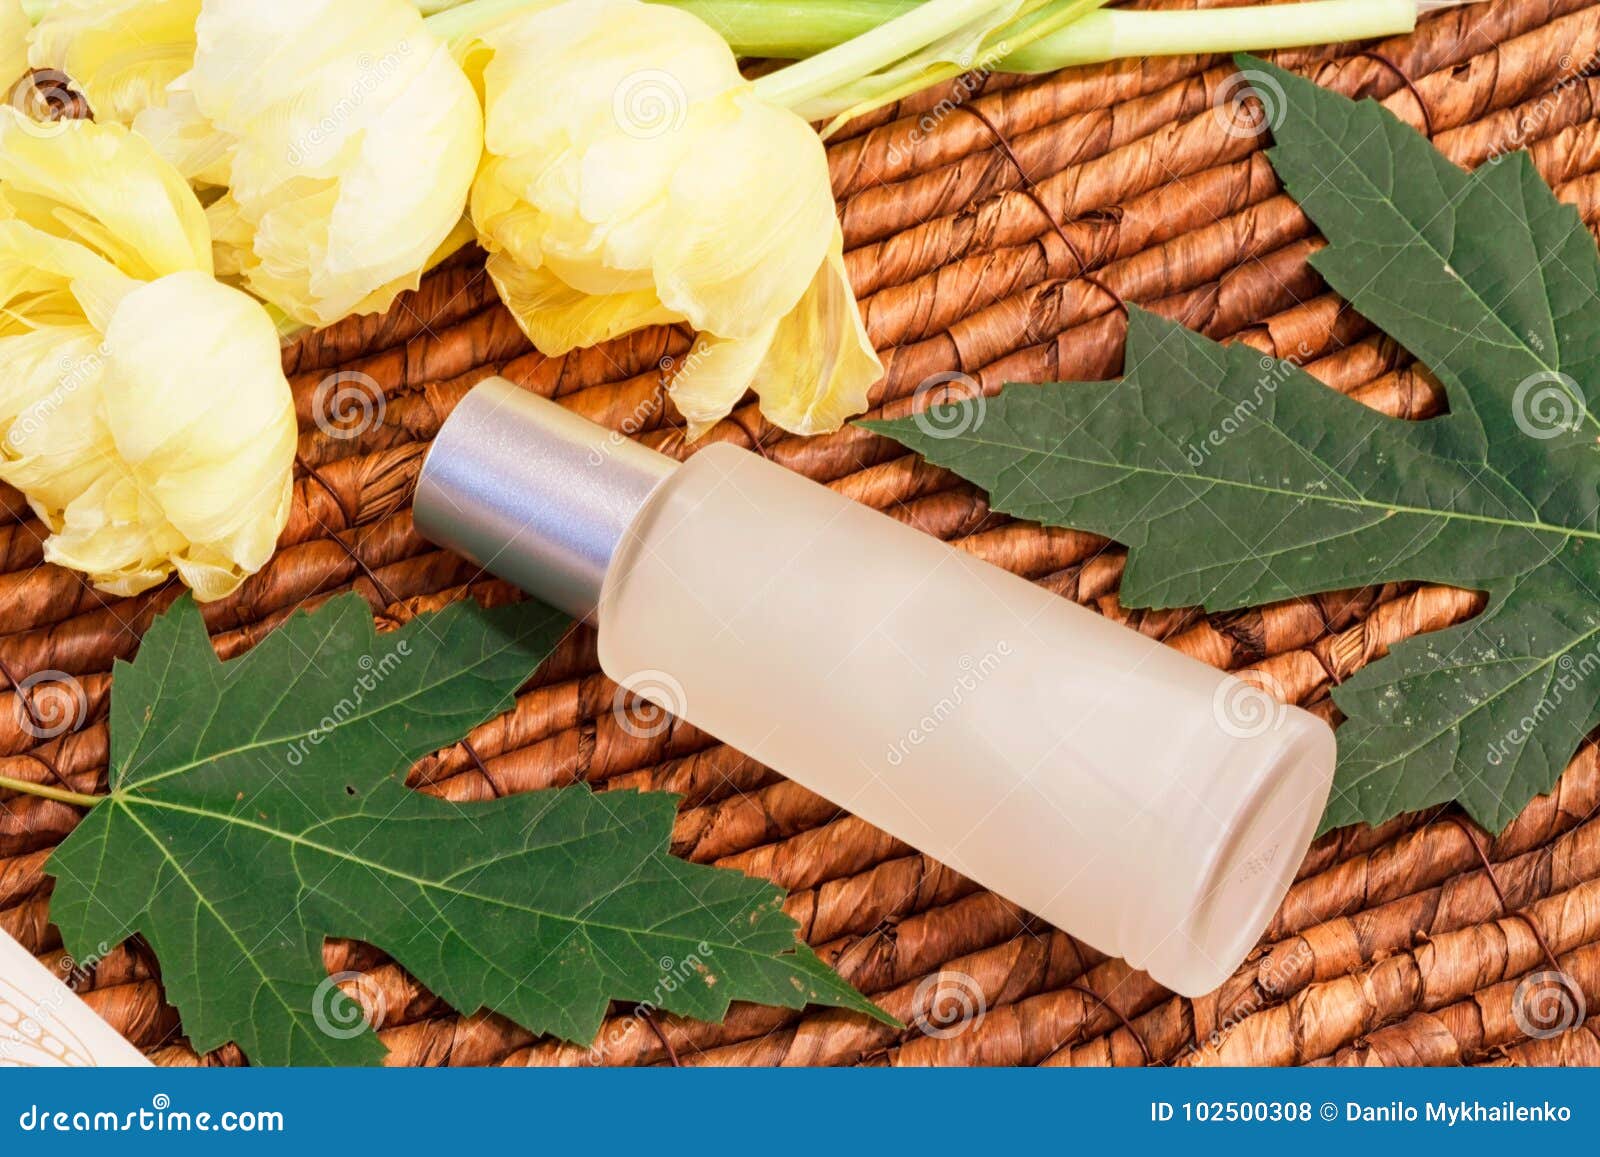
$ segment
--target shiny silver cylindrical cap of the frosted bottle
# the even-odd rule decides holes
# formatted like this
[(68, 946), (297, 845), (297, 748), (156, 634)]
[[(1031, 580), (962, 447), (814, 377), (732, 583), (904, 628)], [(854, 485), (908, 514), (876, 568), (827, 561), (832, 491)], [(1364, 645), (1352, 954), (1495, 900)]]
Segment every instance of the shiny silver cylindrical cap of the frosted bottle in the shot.
[(579, 618), (677, 462), (504, 378), (474, 386), (416, 482), (418, 533)]

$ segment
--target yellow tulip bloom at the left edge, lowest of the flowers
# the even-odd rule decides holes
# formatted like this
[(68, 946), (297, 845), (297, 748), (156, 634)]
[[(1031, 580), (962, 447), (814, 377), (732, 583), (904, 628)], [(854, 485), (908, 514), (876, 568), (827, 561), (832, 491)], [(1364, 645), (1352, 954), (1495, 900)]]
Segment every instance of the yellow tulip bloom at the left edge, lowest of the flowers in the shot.
[(0, 109), (0, 480), (45, 558), (219, 599), (272, 554), (294, 440), (277, 331), (213, 280), (182, 176), (118, 125)]

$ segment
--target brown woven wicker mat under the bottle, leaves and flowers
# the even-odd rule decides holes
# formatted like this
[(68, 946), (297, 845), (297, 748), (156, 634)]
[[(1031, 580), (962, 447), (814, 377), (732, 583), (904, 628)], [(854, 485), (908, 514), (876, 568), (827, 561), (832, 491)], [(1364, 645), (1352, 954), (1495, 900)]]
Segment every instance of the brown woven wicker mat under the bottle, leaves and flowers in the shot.
[[(1462, 165), (1530, 147), (1594, 227), (1600, 80), (1584, 70), (1597, 51), (1594, 0), (1501, 0), (1366, 53), (1278, 59), (1341, 93), (1384, 99)], [(971, 82), (928, 93), (835, 141), (850, 270), (886, 365), (877, 406), (906, 413), (922, 400), (920, 382), (952, 370), (989, 392), (1003, 381), (1112, 376), (1120, 302), (1136, 301), (1294, 357), (1386, 413), (1435, 413), (1437, 387), (1307, 266), (1320, 240), (1278, 192), (1262, 141), (1213, 114), (1230, 74), (1226, 61), (1186, 58), (990, 77), (976, 94)], [(688, 341), (654, 330), (541, 357), (494, 304), (482, 254), (464, 254), (387, 315), (290, 347), (301, 418), (294, 512), (266, 570), (206, 608), (218, 650), (235, 655), (296, 607), (344, 589), (362, 592), (384, 623), (469, 594), (512, 597), (411, 526), (410, 485), (440, 421), (498, 371), (682, 456), (662, 382)], [(381, 386), (381, 421), (373, 413), (339, 426), (322, 414), (318, 426), (317, 387), (338, 370)], [(1117, 546), (994, 515), (982, 493), (883, 438), (856, 429), (787, 437), (752, 405), (710, 437), (760, 443), (790, 469), (1206, 663), (1266, 671), (1330, 719), (1331, 685), (1394, 642), (1482, 607), (1474, 594), (1397, 584), (1232, 615), (1131, 613), (1117, 602)], [(6, 690), (0, 770), (93, 791), (104, 783), (112, 659), (133, 655), (178, 587), (128, 600), (96, 594), (42, 565), (40, 526), (18, 494), (5, 498), (0, 687), (70, 672), (90, 712), (37, 746), (21, 727), (26, 704)], [(1560, 970), (1600, 1011), (1592, 746), (1498, 839), (1451, 810), (1323, 839), (1261, 947), (1218, 992), (1184, 1000), (688, 725), (630, 735), (611, 714), (613, 695), (594, 635), (578, 631), (512, 712), (426, 760), (411, 783), (462, 800), (573, 781), (682, 792), (675, 850), (781, 883), (806, 939), (915, 1027), (742, 1005), (709, 1026), (618, 1008), (595, 1048), (578, 1048), (494, 1016), (458, 1016), (373, 949), (330, 943), (330, 970), (365, 971), (368, 991), (381, 992), (394, 1063), (1600, 1063), (1600, 1016), (1530, 1035), (1538, 1026), (1515, 1000), (1525, 978)], [(5, 800), (0, 813), (0, 925), (58, 968), (70, 962), (48, 923), (42, 869), (77, 818), (32, 797)], [(192, 1053), (138, 941), (96, 962), (82, 987), (160, 1063), (242, 1061), (232, 1048)]]

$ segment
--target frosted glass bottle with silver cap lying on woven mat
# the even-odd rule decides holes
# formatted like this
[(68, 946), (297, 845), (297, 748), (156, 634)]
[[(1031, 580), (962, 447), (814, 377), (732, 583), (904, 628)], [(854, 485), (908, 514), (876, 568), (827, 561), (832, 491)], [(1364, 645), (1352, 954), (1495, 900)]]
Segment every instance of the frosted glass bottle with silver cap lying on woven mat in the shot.
[(1186, 995), (1328, 795), (1309, 712), (730, 445), (678, 466), (490, 379), (414, 510), (618, 683)]

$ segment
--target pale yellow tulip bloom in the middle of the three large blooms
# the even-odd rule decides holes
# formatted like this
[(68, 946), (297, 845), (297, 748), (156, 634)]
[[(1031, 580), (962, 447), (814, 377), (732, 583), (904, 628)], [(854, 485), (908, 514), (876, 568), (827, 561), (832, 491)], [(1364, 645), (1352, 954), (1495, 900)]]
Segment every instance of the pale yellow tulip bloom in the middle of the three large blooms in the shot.
[(459, 243), (482, 114), (406, 0), (58, 0), (30, 61), (152, 139), (218, 275), (293, 323), (381, 312)]

